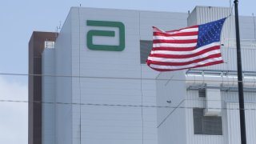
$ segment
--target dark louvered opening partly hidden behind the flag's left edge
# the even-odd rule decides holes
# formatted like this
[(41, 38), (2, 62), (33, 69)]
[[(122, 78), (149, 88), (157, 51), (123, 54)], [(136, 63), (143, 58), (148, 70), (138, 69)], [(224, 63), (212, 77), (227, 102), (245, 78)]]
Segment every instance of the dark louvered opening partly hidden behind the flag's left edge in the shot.
[(141, 64), (146, 63), (146, 59), (150, 54), (152, 49), (153, 42), (152, 41), (140, 41), (140, 51), (141, 51)]

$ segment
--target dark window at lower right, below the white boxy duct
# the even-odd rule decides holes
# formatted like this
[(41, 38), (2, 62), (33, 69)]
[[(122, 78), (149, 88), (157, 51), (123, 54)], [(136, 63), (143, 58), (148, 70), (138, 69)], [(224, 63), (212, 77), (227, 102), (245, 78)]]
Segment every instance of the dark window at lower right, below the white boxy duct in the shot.
[(202, 108), (193, 109), (194, 134), (222, 135), (222, 117), (204, 116)]

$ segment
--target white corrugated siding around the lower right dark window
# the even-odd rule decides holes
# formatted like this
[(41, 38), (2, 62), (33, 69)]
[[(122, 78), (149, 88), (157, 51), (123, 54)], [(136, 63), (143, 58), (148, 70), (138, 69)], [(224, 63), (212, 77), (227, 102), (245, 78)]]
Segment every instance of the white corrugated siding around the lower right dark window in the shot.
[[(238, 93), (222, 91), (222, 136), (194, 134), (193, 107), (205, 107), (205, 98), (198, 97), (198, 90), (187, 90), (186, 93), (186, 138), (190, 144), (240, 143)], [(244, 93), (246, 102), (247, 143), (253, 144), (256, 134), (256, 93)]]

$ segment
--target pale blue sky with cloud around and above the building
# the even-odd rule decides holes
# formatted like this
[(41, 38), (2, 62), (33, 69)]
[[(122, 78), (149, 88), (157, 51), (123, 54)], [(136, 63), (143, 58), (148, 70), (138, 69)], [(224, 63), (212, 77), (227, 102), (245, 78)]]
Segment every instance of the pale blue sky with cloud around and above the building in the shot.
[[(187, 13), (194, 6), (230, 6), (230, 0), (14, 0), (0, 6), (0, 143), (27, 143), (28, 42), (33, 31), (56, 31), (71, 6)], [(256, 14), (255, 0), (239, 1), (239, 14)]]

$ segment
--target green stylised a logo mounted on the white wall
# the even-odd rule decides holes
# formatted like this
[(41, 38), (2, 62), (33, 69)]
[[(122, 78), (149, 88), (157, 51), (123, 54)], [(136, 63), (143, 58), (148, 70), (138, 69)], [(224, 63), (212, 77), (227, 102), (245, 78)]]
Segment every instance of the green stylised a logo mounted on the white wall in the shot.
[(115, 32), (110, 30), (89, 30), (87, 33), (87, 47), (90, 50), (122, 51), (125, 49), (125, 26), (122, 22), (91, 21), (87, 20), (87, 26), (117, 27), (119, 30), (119, 45), (95, 45), (94, 36), (114, 37)]

